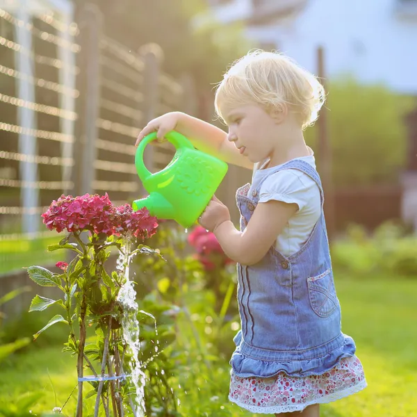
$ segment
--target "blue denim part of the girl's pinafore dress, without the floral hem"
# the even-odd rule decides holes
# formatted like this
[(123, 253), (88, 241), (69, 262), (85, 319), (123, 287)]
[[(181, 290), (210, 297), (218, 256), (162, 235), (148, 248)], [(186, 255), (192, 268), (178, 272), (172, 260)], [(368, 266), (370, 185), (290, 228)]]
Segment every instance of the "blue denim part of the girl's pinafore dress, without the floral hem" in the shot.
[[(309, 163), (293, 159), (270, 174), (289, 168), (316, 181), (323, 208), (320, 177)], [(259, 202), (263, 181), (251, 195), (249, 184), (237, 192), (241, 231)], [(238, 264), (237, 270), (241, 329), (231, 358), (236, 375), (271, 377), (280, 371), (297, 377), (319, 375), (354, 354), (354, 341), (341, 332), (323, 210), (297, 253), (287, 257), (271, 247), (259, 263)]]

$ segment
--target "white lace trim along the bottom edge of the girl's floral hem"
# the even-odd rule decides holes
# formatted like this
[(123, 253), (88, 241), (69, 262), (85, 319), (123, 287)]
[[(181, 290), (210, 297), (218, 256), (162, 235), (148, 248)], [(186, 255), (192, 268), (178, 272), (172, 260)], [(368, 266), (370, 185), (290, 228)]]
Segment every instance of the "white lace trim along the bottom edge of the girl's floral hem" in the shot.
[(366, 388), (368, 384), (366, 384), (366, 379), (359, 382), (359, 384), (350, 386), (347, 389), (343, 389), (342, 391), (336, 391), (335, 393), (323, 395), (322, 397), (318, 398), (317, 400), (313, 400), (310, 402), (305, 402), (304, 404), (288, 404), (288, 405), (278, 405), (277, 407), (259, 407), (256, 405), (249, 405), (244, 404), (238, 400), (234, 400), (229, 396), (229, 401), (234, 402), (239, 407), (243, 409), (252, 411), (252, 413), (259, 413), (259, 414), (279, 414), (279, 413), (291, 413), (293, 411), (302, 411), (306, 407), (309, 407), (313, 404), (327, 404), (329, 402), (341, 400), (341, 398), (348, 397), (349, 395), (359, 393)]

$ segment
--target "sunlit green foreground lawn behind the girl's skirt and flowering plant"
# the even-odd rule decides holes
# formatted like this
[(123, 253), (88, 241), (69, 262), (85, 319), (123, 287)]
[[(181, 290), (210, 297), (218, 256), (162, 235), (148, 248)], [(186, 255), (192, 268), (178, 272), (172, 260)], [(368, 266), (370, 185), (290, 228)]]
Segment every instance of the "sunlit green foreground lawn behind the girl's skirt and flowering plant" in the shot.
[[(417, 280), (350, 279), (340, 273), (336, 276), (343, 332), (357, 343), (357, 355), (365, 368), (368, 388), (323, 405), (321, 416), (417, 417)], [(61, 406), (76, 385), (75, 361), (60, 353), (60, 347), (33, 348), (27, 354), (20, 354), (1, 368), (0, 375), (0, 404), (13, 402), (17, 395), (28, 391), (43, 394), (33, 412), (51, 411)], [(227, 389), (226, 363), (220, 375), (218, 386)], [(179, 395), (183, 408), (193, 409), (193, 404), (189, 403), (197, 397), (183, 391), (179, 391)], [(219, 411), (223, 406), (231, 410), (233, 416), (252, 416), (228, 404), (227, 393), (213, 390), (213, 395), (220, 397)], [(74, 415), (75, 398), (76, 391), (64, 410), (69, 416)]]

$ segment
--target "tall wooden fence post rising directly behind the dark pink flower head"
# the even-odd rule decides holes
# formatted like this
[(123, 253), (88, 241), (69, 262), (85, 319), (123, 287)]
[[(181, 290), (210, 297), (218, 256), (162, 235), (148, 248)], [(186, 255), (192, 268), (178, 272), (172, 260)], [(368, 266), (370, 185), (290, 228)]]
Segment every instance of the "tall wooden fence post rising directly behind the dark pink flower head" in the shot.
[(94, 163), (97, 158), (97, 118), (100, 97), (100, 37), (103, 26), (101, 12), (97, 6), (87, 3), (77, 10), (79, 25), (78, 99), (76, 142), (74, 144), (74, 169), (72, 171), (74, 194), (83, 195), (94, 191)]

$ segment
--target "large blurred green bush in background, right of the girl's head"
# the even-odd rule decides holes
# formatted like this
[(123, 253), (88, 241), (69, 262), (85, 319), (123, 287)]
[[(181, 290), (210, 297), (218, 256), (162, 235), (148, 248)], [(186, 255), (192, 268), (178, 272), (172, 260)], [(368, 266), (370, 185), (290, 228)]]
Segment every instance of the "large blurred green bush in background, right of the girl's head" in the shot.
[[(382, 85), (359, 85), (353, 79), (329, 83), (325, 106), (335, 186), (398, 181), (407, 154), (404, 116), (412, 103)], [(307, 129), (309, 144), (317, 142), (317, 130)]]

